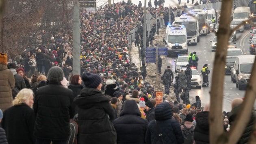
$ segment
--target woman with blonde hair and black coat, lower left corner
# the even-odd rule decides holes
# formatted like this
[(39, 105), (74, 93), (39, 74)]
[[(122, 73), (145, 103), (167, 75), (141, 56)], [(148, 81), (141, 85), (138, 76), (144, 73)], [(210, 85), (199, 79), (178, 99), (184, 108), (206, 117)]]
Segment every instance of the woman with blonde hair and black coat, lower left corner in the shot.
[(9, 144), (35, 144), (33, 104), (33, 91), (25, 88), (17, 94), (13, 106), (4, 111), (2, 128), (6, 131)]

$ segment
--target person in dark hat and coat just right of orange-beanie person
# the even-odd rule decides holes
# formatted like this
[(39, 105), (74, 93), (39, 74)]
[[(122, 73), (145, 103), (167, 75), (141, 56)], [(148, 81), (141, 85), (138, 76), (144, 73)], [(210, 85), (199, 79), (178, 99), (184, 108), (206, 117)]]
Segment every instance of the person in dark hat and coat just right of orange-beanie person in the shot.
[[(26, 88), (26, 84), (22, 76), (18, 75), (15, 68), (16, 65), (14, 63), (7, 64), (7, 68), (11, 70), (13, 76), (15, 78), (15, 87), (12, 90), (13, 98), (18, 94), (18, 92), (24, 88)], [(16, 90), (15, 90), (16, 89)]]

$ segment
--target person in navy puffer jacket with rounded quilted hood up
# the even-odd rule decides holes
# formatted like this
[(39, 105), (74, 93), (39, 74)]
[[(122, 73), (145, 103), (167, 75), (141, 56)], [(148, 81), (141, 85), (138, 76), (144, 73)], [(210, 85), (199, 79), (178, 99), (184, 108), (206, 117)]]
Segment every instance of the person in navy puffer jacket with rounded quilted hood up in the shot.
[[(173, 108), (168, 102), (158, 104), (155, 109), (155, 121), (148, 124), (146, 144), (183, 144), (184, 138), (180, 123), (172, 118)], [(162, 133), (162, 136), (158, 136)]]

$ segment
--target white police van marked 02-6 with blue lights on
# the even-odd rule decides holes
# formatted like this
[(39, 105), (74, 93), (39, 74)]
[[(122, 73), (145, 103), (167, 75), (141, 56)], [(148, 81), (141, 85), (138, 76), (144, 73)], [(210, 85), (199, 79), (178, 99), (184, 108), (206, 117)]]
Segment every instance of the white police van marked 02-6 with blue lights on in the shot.
[(168, 55), (187, 54), (187, 30), (184, 25), (167, 25), (165, 44)]

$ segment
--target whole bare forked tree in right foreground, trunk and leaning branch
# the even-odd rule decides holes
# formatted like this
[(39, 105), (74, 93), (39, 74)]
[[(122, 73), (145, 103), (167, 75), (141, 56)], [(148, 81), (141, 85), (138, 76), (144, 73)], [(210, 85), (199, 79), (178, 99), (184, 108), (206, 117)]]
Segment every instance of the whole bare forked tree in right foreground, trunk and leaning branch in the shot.
[[(245, 100), (243, 106), (239, 111), (239, 116), (236, 117), (229, 132), (224, 133), (222, 120), (222, 104), (223, 104), (223, 80), (225, 74), (225, 63), (227, 46), (230, 35), (234, 30), (230, 30), (230, 15), (232, 11), (232, 0), (223, 0), (221, 5), (221, 17), (219, 23), (219, 30), (217, 32), (217, 51), (215, 54), (213, 78), (210, 91), (210, 144), (236, 144), (243, 134), (252, 114), (253, 104), (256, 98), (256, 63), (252, 68), (252, 75), (250, 77), (247, 91), (245, 93)], [(249, 22), (251, 20), (248, 20)], [(245, 22), (243, 22), (245, 23)], [(234, 28), (235, 30), (241, 25)], [(256, 60), (256, 59), (255, 59)], [(254, 124), (254, 129), (256, 125)], [(256, 133), (251, 135), (251, 144), (255, 143)]]

